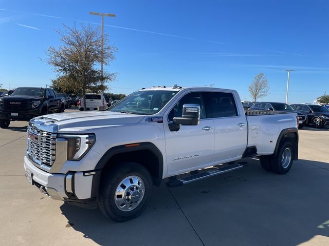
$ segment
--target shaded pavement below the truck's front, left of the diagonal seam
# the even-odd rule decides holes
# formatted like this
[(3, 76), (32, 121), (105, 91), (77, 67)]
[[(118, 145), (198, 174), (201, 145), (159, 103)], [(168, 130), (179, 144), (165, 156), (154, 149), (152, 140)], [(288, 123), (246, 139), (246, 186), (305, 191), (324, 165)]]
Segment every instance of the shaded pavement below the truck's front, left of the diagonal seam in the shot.
[[(72, 227), (100, 245), (202, 245), (168, 189), (154, 187), (148, 208), (133, 220), (115, 222), (99, 209), (60, 207)], [(182, 244), (181, 244), (182, 245)]]

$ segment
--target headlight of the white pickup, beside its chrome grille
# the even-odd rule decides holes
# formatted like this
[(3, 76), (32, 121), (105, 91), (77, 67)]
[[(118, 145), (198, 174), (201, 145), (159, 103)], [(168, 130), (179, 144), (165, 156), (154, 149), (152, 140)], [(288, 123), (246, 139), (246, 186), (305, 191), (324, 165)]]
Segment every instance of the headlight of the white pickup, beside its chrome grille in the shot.
[(96, 141), (94, 133), (83, 135), (59, 134), (67, 139), (67, 159), (80, 160), (93, 147)]

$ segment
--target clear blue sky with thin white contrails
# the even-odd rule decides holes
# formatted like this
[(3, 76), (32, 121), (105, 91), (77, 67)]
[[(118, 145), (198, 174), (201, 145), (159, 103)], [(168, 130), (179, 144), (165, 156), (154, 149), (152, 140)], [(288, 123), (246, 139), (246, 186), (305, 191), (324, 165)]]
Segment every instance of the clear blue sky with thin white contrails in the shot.
[[(270, 95), (261, 100), (308, 103), (329, 93), (328, 1), (0, 1), (0, 83), (3, 88), (50, 85), (45, 62), (59, 46), (53, 29), (100, 23), (118, 48), (106, 67), (117, 72), (113, 93), (154, 85), (235, 89), (263, 72)], [(96, 24), (92, 24), (96, 25)]]

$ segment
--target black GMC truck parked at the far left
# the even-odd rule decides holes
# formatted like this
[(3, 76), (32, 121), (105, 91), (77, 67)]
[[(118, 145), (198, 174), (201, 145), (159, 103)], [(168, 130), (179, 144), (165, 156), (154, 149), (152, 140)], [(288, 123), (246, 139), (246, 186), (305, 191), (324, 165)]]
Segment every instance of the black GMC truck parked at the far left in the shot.
[(8, 127), (10, 120), (29, 121), (36, 116), (61, 112), (63, 106), (52, 89), (19, 87), (0, 98), (0, 127)]

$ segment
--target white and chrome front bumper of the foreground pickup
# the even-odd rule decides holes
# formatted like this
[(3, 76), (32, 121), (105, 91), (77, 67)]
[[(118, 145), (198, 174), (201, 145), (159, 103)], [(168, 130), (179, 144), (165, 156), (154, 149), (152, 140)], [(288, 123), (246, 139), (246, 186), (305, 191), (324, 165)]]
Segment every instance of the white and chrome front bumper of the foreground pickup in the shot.
[[(65, 200), (80, 207), (96, 207), (101, 171), (48, 173), (24, 157), (24, 170), (31, 173), (32, 185), (55, 200)], [(83, 204), (86, 206), (83, 206)], [(90, 206), (94, 203), (95, 206)]]

